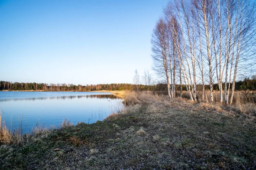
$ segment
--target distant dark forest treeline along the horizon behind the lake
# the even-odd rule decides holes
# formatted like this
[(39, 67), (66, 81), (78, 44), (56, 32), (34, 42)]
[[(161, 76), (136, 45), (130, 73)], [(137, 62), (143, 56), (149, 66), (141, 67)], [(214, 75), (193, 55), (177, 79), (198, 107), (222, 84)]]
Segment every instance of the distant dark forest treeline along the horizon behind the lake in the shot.
[[(206, 90), (210, 89), (210, 85), (204, 85)], [(224, 83), (223, 83), (224, 87)], [(180, 91), (180, 86), (177, 85), (177, 91)], [(185, 89), (186, 85), (182, 85)], [(198, 90), (202, 90), (202, 85), (197, 85)], [(213, 84), (213, 89), (219, 91), (218, 83)], [(73, 84), (47, 84), (35, 82), (6, 82), (0, 81), (0, 91), (123, 91), (123, 90), (137, 90), (137, 85), (130, 83), (111, 83), (111, 84), (97, 84), (97, 85), (73, 85)], [(167, 91), (166, 83), (157, 83), (156, 85), (139, 85), (139, 91)], [(252, 78), (245, 78), (237, 81), (235, 84), (236, 91), (249, 90), (256, 91), (256, 76)]]

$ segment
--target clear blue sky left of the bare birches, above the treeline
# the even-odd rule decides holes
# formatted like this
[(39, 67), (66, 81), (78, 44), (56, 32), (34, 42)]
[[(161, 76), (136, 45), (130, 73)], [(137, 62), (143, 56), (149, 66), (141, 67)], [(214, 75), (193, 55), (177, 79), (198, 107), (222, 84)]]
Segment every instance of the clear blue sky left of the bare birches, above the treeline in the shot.
[(0, 80), (132, 83), (168, 0), (0, 0)]

